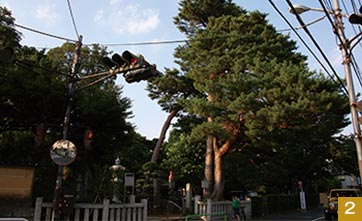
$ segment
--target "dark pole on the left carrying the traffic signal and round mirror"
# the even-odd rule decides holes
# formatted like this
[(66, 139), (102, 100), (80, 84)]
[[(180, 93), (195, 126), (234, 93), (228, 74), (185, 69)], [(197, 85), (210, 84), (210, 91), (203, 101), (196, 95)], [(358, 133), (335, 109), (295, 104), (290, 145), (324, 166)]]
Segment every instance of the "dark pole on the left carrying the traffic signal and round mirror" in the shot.
[[(77, 41), (74, 53), (73, 53), (73, 63), (69, 73), (69, 83), (68, 83), (68, 103), (65, 111), (65, 117), (63, 122), (63, 139), (68, 139), (69, 126), (70, 126), (70, 114), (72, 111), (72, 103), (75, 89), (75, 74), (78, 71), (79, 60), (80, 60), (80, 48), (82, 47), (82, 36), (79, 36)], [(57, 171), (57, 180), (54, 188), (53, 196), (53, 212), (52, 212), (52, 221), (58, 220), (59, 217), (59, 196), (62, 188), (62, 176), (63, 176), (64, 166), (59, 165)]]

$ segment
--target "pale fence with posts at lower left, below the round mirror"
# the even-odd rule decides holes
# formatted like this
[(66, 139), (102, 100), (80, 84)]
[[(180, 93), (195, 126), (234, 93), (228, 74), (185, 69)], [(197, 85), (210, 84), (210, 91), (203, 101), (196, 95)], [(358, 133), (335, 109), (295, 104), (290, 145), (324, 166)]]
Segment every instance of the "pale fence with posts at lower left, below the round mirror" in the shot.
[[(53, 204), (37, 198), (34, 210), (34, 221), (50, 221)], [(110, 204), (75, 203), (73, 214), (68, 220), (74, 221), (144, 221), (147, 220), (147, 200), (140, 203)]]

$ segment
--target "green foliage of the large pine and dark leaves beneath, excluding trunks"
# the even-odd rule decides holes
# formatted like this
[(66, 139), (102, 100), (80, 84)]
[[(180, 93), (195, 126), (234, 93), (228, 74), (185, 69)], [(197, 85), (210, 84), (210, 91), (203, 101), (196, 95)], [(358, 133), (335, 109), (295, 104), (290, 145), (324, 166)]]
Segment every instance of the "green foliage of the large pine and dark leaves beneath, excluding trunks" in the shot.
[[(210, 16), (206, 22), (194, 19), (202, 17), (197, 13), (191, 15), (195, 4), (182, 2), (179, 18), (189, 23), (181, 25), (193, 35), (176, 49), (175, 57), (194, 88), (208, 99), (179, 102), (188, 114), (212, 121), (194, 126), (188, 134), (213, 135), (219, 145), (238, 135), (225, 157), (227, 185), (265, 187), (268, 192), (293, 190), (293, 179), (312, 185), (319, 179), (316, 174), (329, 166), (329, 144), (348, 124), (348, 101), (338, 93), (341, 85), (308, 70), (295, 42), (277, 33), (265, 14)], [(182, 142), (180, 134), (168, 146)]]

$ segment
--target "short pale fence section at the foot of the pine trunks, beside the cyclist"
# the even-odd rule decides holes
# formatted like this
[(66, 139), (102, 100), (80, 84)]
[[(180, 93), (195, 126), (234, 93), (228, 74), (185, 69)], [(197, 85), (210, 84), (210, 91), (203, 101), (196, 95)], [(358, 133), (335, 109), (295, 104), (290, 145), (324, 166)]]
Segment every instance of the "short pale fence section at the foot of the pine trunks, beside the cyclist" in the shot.
[[(194, 205), (195, 214), (213, 214), (225, 212), (226, 215), (232, 214), (231, 201), (212, 201), (207, 199), (206, 202), (201, 200), (200, 196), (195, 196), (195, 205)], [(251, 200), (241, 201), (241, 206), (244, 208), (246, 219), (251, 219)], [(210, 219), (209, 219), (210, 220)]]

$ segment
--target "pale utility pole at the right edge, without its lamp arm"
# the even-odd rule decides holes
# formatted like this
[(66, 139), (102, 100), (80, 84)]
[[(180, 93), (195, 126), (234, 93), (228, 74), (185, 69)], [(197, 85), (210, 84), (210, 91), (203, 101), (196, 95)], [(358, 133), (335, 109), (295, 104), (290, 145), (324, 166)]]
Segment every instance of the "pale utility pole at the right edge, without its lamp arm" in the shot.
[(337, 18), (337, 24), (336, 24), (338, 30), (337, 34), (339, 35), (339, 38), (341, 40), (340, 50), (342, 52), (344, 72), (347, 81), (348, 98), (351, 108), (352, 125), (354, 132), (354, 141), (356, 144), (357, 159), (358, 159), (358, 170), (359, 170), (359, 177), (361, 179), (362, 178), (362, 140), (361, 140), (361, 128), (358, 123), (358, 113), (355, 105), (356, 97), (355, 97), (353, 79), (351, 74), (350, 45), (344, 34), (344, 26), (342, 21), (341, 9), (339, 7), (339, 0), (334, 0), (333, 3), (334, 3), (334, 14), (336, 15)]

